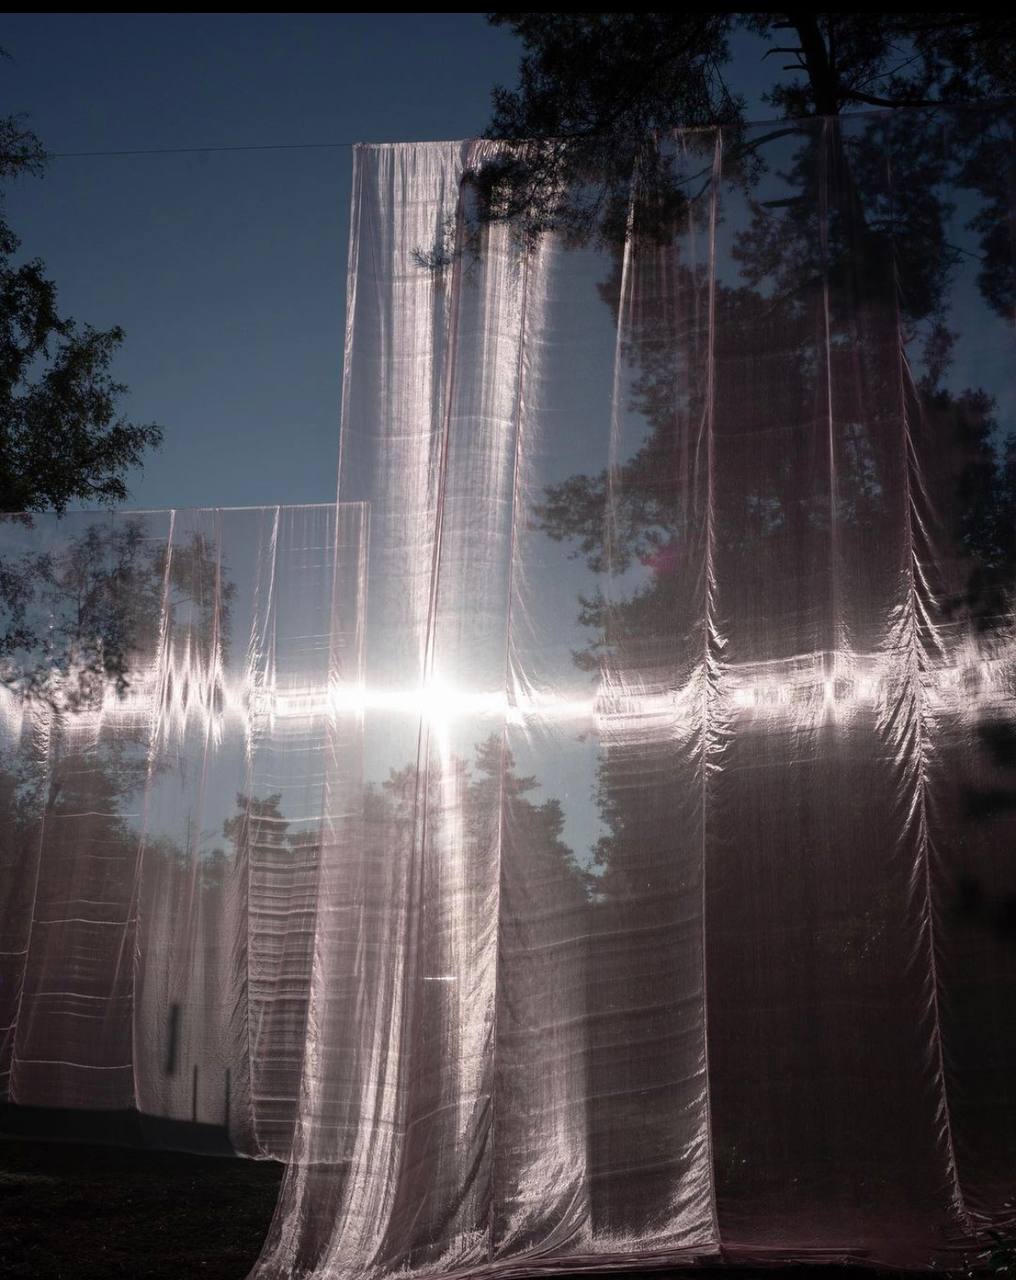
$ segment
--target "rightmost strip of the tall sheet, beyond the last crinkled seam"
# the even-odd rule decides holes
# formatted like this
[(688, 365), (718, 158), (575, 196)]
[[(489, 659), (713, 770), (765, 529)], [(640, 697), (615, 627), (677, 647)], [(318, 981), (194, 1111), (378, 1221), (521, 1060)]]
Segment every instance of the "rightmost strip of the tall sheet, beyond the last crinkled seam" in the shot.
[[(901, 417), (911, 474), (914, 648), (924, 730), (925, 863), (915, 913), (925, 963), (928, 1070), (955, 1216), (1012, 1229), (1016, 1023), (998, 1018), (1016, 983), (1006, 925), (1013, 899), (1016, 722), (1008, 494), (1012, 397), (1011, 109), (889, 116)], [(975, 156), (974, 163), (969, 160)], [(928, 266), (912, 228), (941, 198), (939, 314), (921, 315)], [(962, 317), (955, 332), (953, 317)]]

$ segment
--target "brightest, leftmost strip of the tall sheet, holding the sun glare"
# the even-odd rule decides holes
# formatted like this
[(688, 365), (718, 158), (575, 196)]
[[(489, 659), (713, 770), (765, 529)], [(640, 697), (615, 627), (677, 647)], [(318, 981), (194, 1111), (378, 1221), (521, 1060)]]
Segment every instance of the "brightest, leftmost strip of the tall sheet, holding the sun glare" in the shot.
[[(504, 234), (476, 257), (461, 239), (481, 150), (357, 152), (340, 493), (371, 512), (365, 785), (316, 961), (349, 1021), (320, 1046), (331, 1137), (307, 1133), (265, 1274), (294, 1253), (340, 1272), (489, 1253), (521, 269)], [(319, 1158), (342, 1169), (334, 1238), (301, 1225)]]

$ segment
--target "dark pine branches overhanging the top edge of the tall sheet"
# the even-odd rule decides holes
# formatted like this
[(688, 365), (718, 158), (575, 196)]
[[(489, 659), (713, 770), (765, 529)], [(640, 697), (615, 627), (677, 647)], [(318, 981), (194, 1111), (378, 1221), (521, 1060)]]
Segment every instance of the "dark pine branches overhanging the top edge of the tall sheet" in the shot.
[[(480, 221), (531, 238), (623, 239), (668, 233), (685, 206), (660, 140), (724, 125), (727, 172), (745, 100), (729, 79), (731, 36), (763, 37), (787, 118), (869, 106), (979, 102), (1016, 95), (1016, 20), (989, 13), (493, 13), (520, 37), (514, 90), (494, 90), (488, 137), (512, 145), (471, 175)], [(746, 178), (754, 145), (740, 156)], [(632, 174), (640, 198), (631, 207)]]

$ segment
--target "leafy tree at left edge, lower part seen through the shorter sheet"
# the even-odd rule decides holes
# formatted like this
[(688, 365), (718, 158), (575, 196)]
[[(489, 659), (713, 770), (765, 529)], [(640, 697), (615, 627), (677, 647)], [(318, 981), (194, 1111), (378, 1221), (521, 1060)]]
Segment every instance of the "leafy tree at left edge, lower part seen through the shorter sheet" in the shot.
[[(161, 428), (120, 410), (127, 387), (111, 370), (123, 329), (64, 315), (44, 262), (19, 257), (3, 184), (38, 178), (45, 164), (23, 119), (0, 118), (0, 512), (8, 513), (120, 503), (127, 475), (163, 438)], [(160, 590), (159, 567), (129, 524), (95, 525), (59, 556), (1, 552), (0, 681), (64, 705), (92, 701), (106, 680), (125, 689), (138, 627), (157, 618), (151, 593)], [(44, 625), (45, 609), (52, 625)]]

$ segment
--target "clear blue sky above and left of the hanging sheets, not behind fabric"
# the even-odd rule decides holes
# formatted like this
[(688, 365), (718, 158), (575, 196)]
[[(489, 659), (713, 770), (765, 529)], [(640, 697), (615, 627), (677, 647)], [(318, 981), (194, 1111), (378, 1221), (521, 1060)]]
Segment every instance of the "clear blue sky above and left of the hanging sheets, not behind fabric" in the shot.
[[(482, 14), (13, 14), (0, 110), (52, 152), (482, 132), (520, 45)], [(758, 109), (769, 78), (738, 37)], [(122, 325), (128, 412), (166, 429), (132, 507), (331, 502), (348, 147), (56, 159), (6, 196), (63, 310)]]

